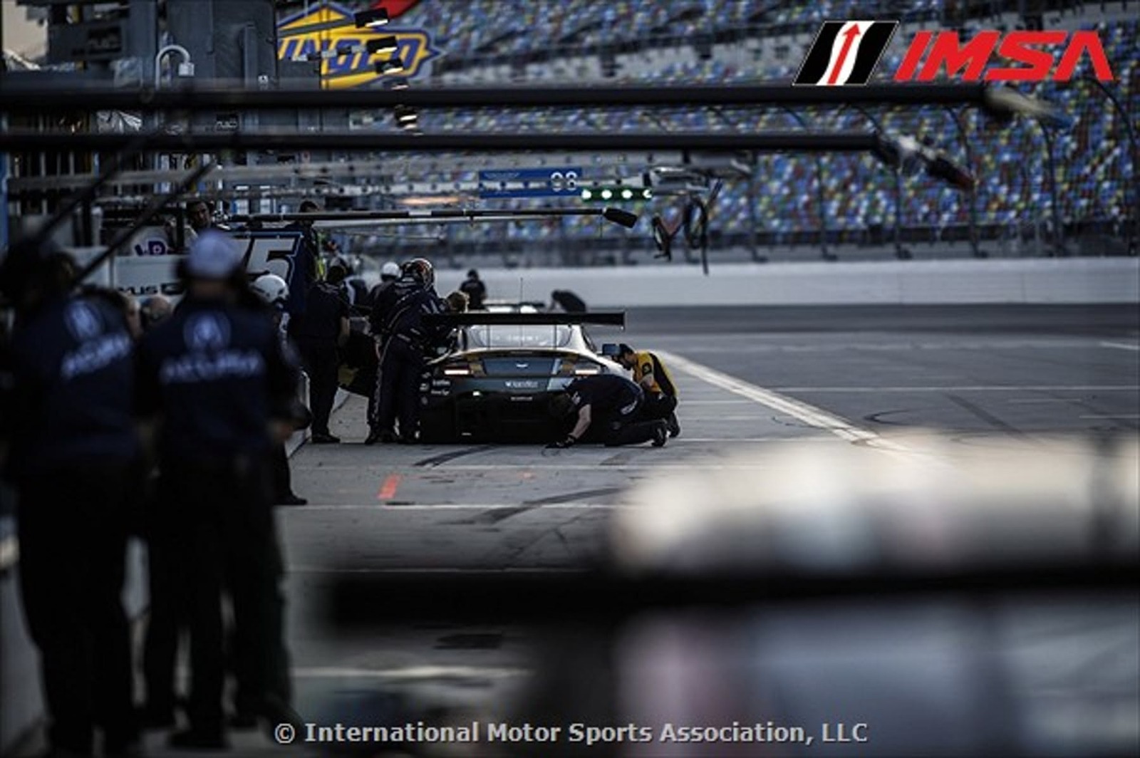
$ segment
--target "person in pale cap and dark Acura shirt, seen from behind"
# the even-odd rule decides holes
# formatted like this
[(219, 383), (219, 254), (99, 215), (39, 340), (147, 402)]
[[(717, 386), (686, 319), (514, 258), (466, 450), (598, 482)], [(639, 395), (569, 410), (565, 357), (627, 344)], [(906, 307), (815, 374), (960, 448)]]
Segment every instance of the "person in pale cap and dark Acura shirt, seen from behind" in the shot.
[(169, 548), (188, 598), (190, 728), (181, 748), (222, 748), (221, 594), (234, 608), (239, 708), (279, 716), (274, 682), (282, 647), (282, 567), (270, 505), (269, 455), (291, 431), (298, 369), (272, 319), (245, 283), (242, 255), (217, 231), (198, 236), (181, 266), (186, 296), (138, 348), (141, 417), (157, 422), (155, 505), (179, 536)]

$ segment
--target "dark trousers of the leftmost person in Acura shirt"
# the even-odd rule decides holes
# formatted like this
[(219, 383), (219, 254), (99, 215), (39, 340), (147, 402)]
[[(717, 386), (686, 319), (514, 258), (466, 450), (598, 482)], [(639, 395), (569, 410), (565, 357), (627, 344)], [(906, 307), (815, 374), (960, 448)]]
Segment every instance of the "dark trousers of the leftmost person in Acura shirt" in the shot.
[(135, 470), (67, 467), (19, 487), (19, 580), (40, 650), (54, 748), (89, 753), (135, 739), (131, 647), (122, 605)]

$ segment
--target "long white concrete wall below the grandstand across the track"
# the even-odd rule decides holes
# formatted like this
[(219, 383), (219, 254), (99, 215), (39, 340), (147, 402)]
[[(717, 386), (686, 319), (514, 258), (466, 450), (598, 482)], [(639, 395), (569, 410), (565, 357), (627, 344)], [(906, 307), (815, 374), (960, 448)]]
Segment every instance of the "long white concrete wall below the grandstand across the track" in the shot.
[[(438, 270), (437, 290), (464, 271)], [(811, 263), (714, 262), (584, 269), (484, 269), (489, 298), (549, 302), (570, 290), (591, 308), (1140, 302), (1135, 258)]]

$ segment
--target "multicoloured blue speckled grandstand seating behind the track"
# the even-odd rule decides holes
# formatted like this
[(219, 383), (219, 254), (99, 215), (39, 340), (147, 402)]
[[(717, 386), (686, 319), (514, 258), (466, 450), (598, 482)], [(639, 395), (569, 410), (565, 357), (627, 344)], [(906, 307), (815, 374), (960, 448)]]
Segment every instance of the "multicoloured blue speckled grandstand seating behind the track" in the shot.
[[(972, 16), (974, 27), (1017, 24), (1013, 16), (988, 15), (1003, 3), (925, 0), (897, 3), (899, 17), (912, 23)], [(1081, 6), (1083, 3), (1067, 3)], [(1109, 87), (1129, 113), (1140, 112), (1140, 22), (1097, 21), (1097, 3), (1089, 3), (1085, 15), (1070, 15), (1068, 27), (1096, 28), (1114, 65), (1117, 81)], [(531, 2), (523, 0), (472, 0), (464, 3), (422, 2), (408, 23), (435, 34), (435, 43), (453, 60), (479, 60), (508, 52), (514, 56), (545, 49), (580, 51), (610, 46), (622, 49), (637, 40), (670, 34), (692, 38), (700, 33), (717, 35), (747, 27), (757, 34), (779, 31), (782, 36), (756, 38), (735, 47), (718, 44), (714, 55), (694, 55), (692, 43), (676, 48), (673, 63), (668, 55), (646, 56), (649, 63), (617, 72), (616, 82), (748, 82), (789, 78), (799, 65), (804, 46), (821, 19), (858, 17), (858, 3), (841, 0), (774, 3), (759, 0), (726, 2), (634, 2), (620, 0), (598, 3), (587, 0)], [(958, 8), (959, 11), (951, 11)], [(966, 9), (964, 11), (961, 9)], [(865, 14), (864, 14), (865, 15)], [(883, 14), (877, 14), (881, 17)], [(914, 27), (911, 26), (913, 30)], [(793, 36), (789, 36), (793, 35)], [(797, 36), (798, 35), (798, 36)], [(901, 59), (909, 34), (896, 34), (879, 68), (889, 75)], [(750, 55), (741, 55), (742, 44), (751, 44)], [(783, 50), (781, 51), (781, 48)], [(788, 52), (791, 50), (791, 52)], [(725, 55), (722, 52), (727, 51)], [(735, 54), (731, 54), (735, 51)], [(668, 49), (665, 50), (668, 54)], [(549, 65), (547, 65), (549, 67)], [(532, 71), (532, 67), (528, 71)], [(885, 73), (887, 72), (887, 73)], [(1078, 75), (1080, 75), (1078, 71)], [(1067, 225), (1125, 219), (1135, 213), (1137, 188), (1130, 157), (1126, 125), (1094, 83), (1044, 83), (1028, 89), (1033, 95), (1058, 104), (1072, 119), (1070, 129), (1052, 129), (1049, 137), (1052, 164), (1058, 182), (1058, 211)], [(888, 132), (923, 137), (958, 161), (967, 162), (962, 135), (954, 115), (942, 107), (920, 109), (874, 108), (870, 116)], [(1051, 223), (1052, 187), (1050, 161), (1043, 128), (1018, 120), (994, 129), (974, 109), (961, 113), (975, 174), (979, 178), (975, 210), (977, 221), (987, 228)], [(870, 119), (857, 111), (807, 114), (815, 128), (871, 129)], [(422, 115), (427, 131), (442, 130), (568, 130), (635, 131), (797, 129), (787, 113), (754, 108), (712, 113), (701, 109), (609, 108), (592, 112), (544, 109), (520, 114), (518, 111), (449, 111)], [(870, 156), (830, 155), (820, 161), (823, 169), (826, 226), (831, 231), (863, 231), (889, 228), (896, 213), (895, 177)], [(762, 156), (756, 181), (756, 218), (768, 233), (817, 231), (821, 226), (816, 203), (816, 162), (809, 156)], [(732, 181), (717, 201), (714, 226), (722, 230), (749, 226), (749, 188), (743, 180)], [(940, 230), (961, 227), (970, 218), (969, 195), (958, 193), (925, 176), (902, 177), (901, 223)], [(456, 230), (458, 238), (481, 235), (479, 230)], [(561, 235), (606, 236), (621, 234), (601, 229), (581, 219), (565, 219), (562, 225), (512, 226), (507, 239), (548, 239)]]

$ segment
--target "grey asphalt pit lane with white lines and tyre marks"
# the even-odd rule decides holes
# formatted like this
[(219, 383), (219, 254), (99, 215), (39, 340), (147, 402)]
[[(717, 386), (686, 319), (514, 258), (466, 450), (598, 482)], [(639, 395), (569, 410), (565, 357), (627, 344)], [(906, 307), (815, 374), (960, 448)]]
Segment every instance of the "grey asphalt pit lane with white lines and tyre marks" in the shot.
[(593, 335), (673, 358), (683, 432), (662, 449), (366, 447), (353, 397), (333, 421), (343, 443), (293, 456), (309, 505), (280, 508), (279, 524), (302, 715), (326, 723), (348, 702), (372, 717), (367, 698), (392, 692), (494, 711), (530, 666), (528, 633), (510, 626), (331, 629), (323, 598), (337, 576), (580, 569), (606, 554), (625, 488), (723, 467), (743, 446), (906, 443), (929, 427), (1021, 446), (1140, 427), (1135, 305), (667, 309), (627, 324)]

